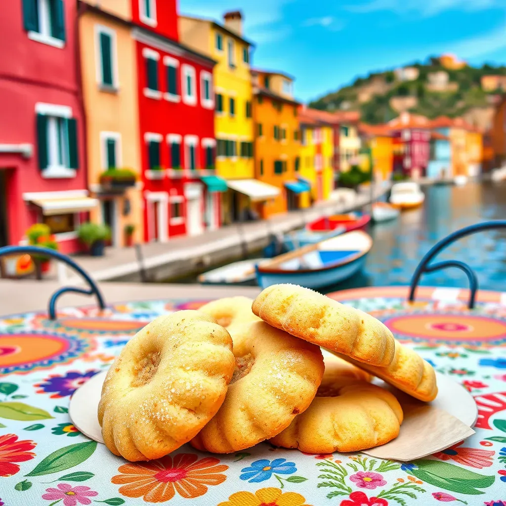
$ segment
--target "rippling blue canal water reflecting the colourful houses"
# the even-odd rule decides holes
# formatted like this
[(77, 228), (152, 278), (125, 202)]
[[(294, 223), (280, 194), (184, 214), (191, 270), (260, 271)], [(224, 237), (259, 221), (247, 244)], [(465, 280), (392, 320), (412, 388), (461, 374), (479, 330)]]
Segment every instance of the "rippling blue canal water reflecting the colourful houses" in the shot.
[[(434, 185), (423, 187), (423, 191), (426, 199), (422, 207), (405, 211), (391, 222), (369, 226), (374, 244), (362, 272), (319, 291), (407, 285), (420, 260), (440, 239), (468, 225), (506, 219), (506, 182), (469, 183), (462, 187)], [(364, 212), (368, 212), (367, 207)], [(259, 252), (250, 254), (250, 258), (260, 256)], [(480, 288), (506, 291), (506, 230), (460, 239), (439, 254), (436, 261), (441, 260), (465, 262), (476, 272)], [(196, 283), (196, 275), (178, 282)], [(424, 274), (420, 285), (468, 287), (468, 279), (460, 270), (450, 268)]]

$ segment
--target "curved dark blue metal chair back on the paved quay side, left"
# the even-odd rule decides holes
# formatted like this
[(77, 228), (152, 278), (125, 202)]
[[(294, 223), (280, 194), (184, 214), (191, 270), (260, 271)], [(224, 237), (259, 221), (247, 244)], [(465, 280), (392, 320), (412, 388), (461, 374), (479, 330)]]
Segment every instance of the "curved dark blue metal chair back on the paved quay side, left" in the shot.
[(56, 301), (63, 293), (74, 292), (74, 293), (82, 293), (85, 295), (94, 295), (97, 299), (97, 303), (100, 309), (105, 309), (104, 298), (102, 297), (102, 293), (100, 292), (95, 281), (93, 281), (90, 275), (85, 270), (83, 270), (79, 265), (77, 265), (70, 257), (67, 257), (67, 255), (63, 255), (62, 253), (59, 253), (54, 249), (39, 246), (4, 246), (0, 248), (0, 257), (18, 253), (28, 255), (38, 255), (38, 256), (44, 255), (45, 257), (51, 257), (54, 258), (55, 260), (60, 260), (61, 262), (64, 262), (69, 267), (74, 269), (74, 271), (77, 271), (77, 273), (80, 274), (80, 276), (90, 286), (89, 289), (78, 288), (77, 286), (64, 286), (56, 290), (51, 296), (48, 306), (48, 314), (51, 320), (56, 320)]

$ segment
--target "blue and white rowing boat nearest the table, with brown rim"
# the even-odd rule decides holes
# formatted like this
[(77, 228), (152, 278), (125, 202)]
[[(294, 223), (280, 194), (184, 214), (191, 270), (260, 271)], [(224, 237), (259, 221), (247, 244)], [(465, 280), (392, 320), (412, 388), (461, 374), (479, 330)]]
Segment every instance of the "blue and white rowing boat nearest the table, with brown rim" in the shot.
[(361, 230), (331, 237), (261, 261), (256, 267), (257, 282), (262, 288), (278, 283), (307, 288), (339, 283), (362, 268), (371, 246), (371, 237)]

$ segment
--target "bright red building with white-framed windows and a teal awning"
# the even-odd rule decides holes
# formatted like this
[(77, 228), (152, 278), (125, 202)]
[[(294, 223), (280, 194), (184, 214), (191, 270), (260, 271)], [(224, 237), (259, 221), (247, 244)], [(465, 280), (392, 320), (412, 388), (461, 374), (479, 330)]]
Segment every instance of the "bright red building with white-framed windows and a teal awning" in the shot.
[(175, 2), (133, 0), (133, 19), (145, 239), (218, 228), (215, 62), (179, 44)]

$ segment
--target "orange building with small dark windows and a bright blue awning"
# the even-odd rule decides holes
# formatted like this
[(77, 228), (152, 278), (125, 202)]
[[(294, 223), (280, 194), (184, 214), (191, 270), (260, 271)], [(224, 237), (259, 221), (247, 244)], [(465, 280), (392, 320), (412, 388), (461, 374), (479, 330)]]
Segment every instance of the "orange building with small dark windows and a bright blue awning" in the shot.
[(281, 72), (252, 70), (255, 123), (255, 178), (279, 194), (256, 204), (262, 218), (303, 205), (310, 186), (299, 180), (299, 103), (293, 100), (293, 78)]

